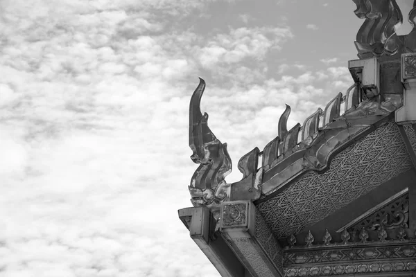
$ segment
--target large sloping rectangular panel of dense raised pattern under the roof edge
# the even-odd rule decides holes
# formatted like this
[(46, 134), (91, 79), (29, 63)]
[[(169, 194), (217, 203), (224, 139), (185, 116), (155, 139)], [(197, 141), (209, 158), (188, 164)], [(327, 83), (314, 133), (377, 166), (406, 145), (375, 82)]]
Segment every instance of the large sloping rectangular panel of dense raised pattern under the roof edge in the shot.
[(406, 145), (391, 121), (336, 155), (327, 172), (306, 172), (257, 208), (277, 238), (287, 238), (410, 168)]

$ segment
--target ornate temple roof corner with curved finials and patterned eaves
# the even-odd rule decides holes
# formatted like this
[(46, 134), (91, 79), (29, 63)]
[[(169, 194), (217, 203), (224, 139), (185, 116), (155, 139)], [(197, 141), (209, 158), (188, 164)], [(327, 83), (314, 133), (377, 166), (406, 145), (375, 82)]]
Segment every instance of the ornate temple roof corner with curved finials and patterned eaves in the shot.
[[(353, 0), (364, 19), (348, 68), (354, 83), (231, 171), (191, 96), (189, 146), (198, 163), (178, 211), (221, 276), (416, 277), (416, 1), (397, 35), (395, 0)], [(343, 114), (340, 114), (343, 105)], [(260, 166), (261, 165), (261, 166)]]

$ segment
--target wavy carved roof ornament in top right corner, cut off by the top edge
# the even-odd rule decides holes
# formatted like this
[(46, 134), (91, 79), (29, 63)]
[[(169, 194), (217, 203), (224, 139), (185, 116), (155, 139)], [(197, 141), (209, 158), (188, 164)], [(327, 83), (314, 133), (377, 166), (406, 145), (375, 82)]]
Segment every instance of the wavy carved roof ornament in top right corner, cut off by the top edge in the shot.
[(358, 57), (395, 55), (399, 51), (399, 39), (395, 27), (403, 22), (395, 0), (353, 0), (354, 13), (365, 19), (356, 37)]

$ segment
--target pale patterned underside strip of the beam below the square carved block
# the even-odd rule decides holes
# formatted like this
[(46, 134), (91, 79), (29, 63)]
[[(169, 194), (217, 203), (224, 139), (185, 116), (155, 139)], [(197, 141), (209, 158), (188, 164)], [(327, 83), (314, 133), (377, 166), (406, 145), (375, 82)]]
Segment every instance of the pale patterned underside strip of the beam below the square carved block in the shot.
[(233, 242), (258, 276), (275, 277), (256, 249), (254, 249), (249, 238), (235, 238)]

